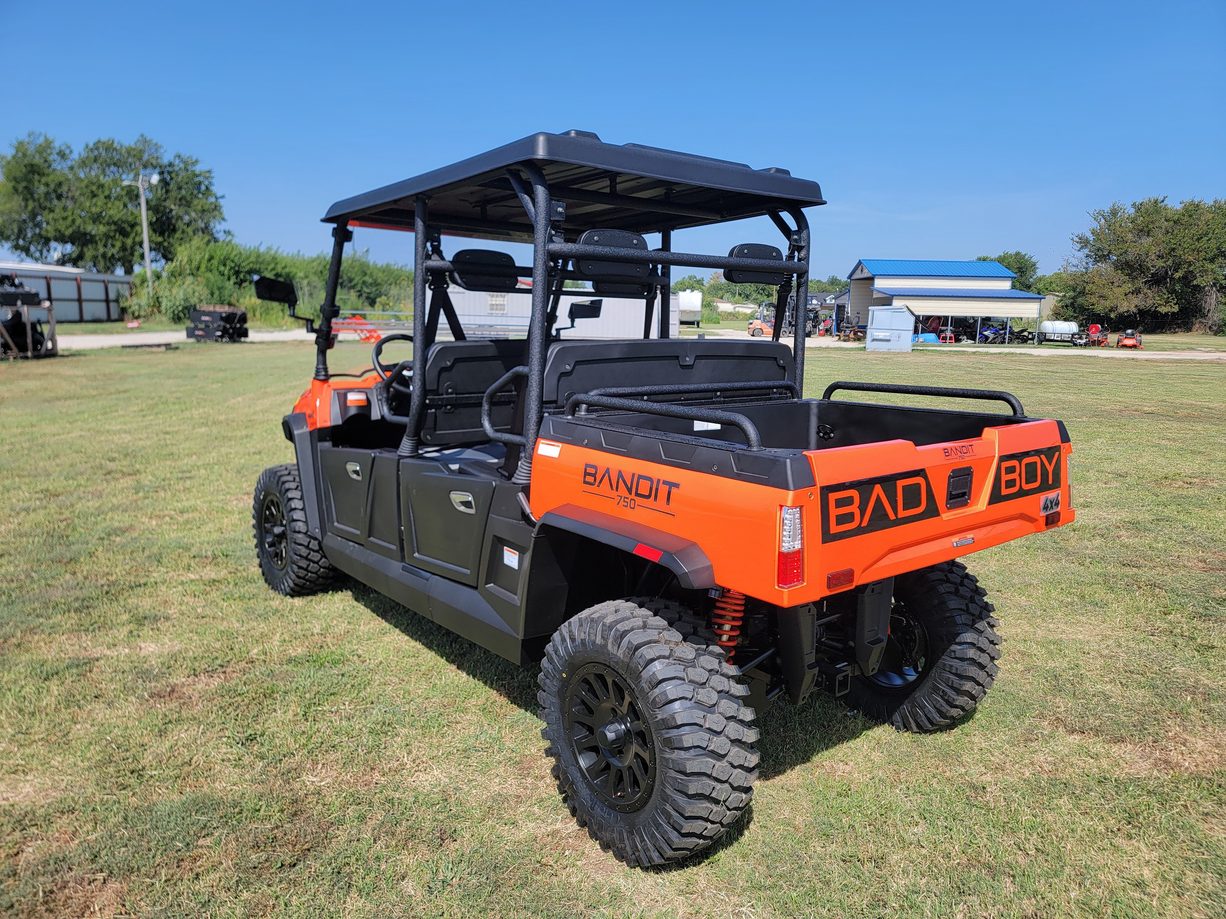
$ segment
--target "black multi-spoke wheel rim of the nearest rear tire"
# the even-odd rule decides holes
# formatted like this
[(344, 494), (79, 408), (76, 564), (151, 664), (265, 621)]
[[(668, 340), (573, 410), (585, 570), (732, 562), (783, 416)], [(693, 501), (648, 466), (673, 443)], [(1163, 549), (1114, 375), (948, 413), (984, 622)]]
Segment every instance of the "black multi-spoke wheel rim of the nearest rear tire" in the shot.
[(588, 788), (617, 811), (647, 804), (656, 745), (630, 683), (612, 667), (585, 664), (566, 687), (566, 736)]

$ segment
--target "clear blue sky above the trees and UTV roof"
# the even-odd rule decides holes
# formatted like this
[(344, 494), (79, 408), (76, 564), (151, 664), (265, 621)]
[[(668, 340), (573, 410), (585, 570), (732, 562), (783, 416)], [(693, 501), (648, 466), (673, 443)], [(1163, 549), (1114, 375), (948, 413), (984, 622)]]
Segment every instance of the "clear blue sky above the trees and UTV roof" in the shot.
[[(0, 143), (147, 134), (213, 169), (235, 239), (327, 248), (338, 199), (538, 130), (821, 184), (815, 274), (1022, 249), (1086, 212), (1226, 194), (1226, 5), (0, 0)], [(776, 243), (767, 222), (677, 248)], [(412, 236), (358, 230), (380, 260)], [(455, 244), (445, 246), (447, 251)]]

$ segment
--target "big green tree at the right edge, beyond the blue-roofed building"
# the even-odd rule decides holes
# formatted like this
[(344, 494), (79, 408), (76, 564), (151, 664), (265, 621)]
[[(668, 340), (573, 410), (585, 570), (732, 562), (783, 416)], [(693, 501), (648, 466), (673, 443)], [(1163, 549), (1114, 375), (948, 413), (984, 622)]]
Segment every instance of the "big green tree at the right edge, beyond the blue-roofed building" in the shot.
[(1117, 201), (1090, 218), (1092, 225), (1073, 235), (1076, 255), (1064, 266), (1064, 315), (1224, 331), (1226, 200)]

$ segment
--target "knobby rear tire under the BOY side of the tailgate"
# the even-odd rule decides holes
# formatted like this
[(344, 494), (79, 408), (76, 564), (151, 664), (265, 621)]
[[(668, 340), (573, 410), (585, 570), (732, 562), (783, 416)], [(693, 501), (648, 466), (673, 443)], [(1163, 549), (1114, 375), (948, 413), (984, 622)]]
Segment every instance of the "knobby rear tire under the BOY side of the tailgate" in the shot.
[(915, 733), (937, 730), (975, 711), (996, 680), (1000, 658), (996, 607), (986, 596), (960, 561), (896, 577), (881, 669), (852, 679), (848, 706)]

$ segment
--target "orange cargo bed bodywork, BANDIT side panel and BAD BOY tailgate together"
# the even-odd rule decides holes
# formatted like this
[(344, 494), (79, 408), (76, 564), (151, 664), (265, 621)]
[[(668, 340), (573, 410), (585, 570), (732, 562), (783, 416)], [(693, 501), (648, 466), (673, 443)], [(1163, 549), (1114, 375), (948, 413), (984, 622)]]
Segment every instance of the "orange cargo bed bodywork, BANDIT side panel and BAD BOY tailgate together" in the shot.
[[(839, 588), (851, 589), (1048, 529), (1045, 502), (1058, 506), (1057, 526), (1070, 523), (1070, 452), (1054, 422), (924, 447), (897, 440), (810, 451), (817, 486), (787, 491), (544, 440), (532, 458), (531, 506), (539, 518), (574, 504), (690, 539), (721, 586), (794, 605), (832, 593), (831, 572), (851, 569), (853, 581)], [(972, 479), (966, 506), (949, 510), (955, 469)], [(804, 509), (804, 582), (780, 589), (780, 507), (788, 505)]]

